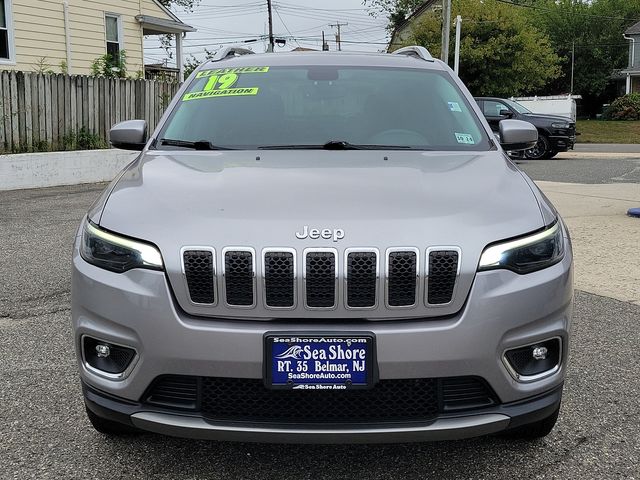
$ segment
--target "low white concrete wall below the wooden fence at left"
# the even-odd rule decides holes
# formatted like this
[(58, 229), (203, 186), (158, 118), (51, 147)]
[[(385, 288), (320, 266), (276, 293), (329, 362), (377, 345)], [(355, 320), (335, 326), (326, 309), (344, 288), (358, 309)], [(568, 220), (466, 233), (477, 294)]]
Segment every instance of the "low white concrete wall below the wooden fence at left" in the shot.
[(136, 155), (116, 149), (2, 155), (0, 190), (106, 182)]

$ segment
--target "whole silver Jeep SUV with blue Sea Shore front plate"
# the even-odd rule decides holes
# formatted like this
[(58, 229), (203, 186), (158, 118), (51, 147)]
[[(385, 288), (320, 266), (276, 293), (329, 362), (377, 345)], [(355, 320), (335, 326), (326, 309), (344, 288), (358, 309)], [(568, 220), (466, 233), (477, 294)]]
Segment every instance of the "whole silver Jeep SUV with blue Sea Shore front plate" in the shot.
[(185, 82), (82, 221), (73, 331), (94, 427), (396, 442), (556, 422), (572, 253), (554, 207), (421, 47), (257, 55)]

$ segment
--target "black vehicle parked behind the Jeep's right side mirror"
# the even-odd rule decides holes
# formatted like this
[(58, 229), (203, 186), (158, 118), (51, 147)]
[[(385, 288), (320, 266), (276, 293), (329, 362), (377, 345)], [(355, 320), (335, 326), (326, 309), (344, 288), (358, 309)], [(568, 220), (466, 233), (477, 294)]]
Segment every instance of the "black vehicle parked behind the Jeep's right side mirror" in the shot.
[(498, 132), (500, 120), (515, 118), (532, 123), (538, 129), (538, 143), (525, 150), (525, 158), (541, 160), (553, 158), (558, 152), (573, 150), (576, 142), (576, 124), (566, 117), (538, 114), (513, 100), (479, 97), (475, 99), (491, 129)]

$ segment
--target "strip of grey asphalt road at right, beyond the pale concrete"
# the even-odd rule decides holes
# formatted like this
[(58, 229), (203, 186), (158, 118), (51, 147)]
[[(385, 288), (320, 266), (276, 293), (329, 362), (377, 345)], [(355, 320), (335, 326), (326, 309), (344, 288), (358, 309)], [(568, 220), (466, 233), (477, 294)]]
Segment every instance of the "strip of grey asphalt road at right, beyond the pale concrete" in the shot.
[(517, 160), (516, 163), (534, 180), (567, 183), (640, 183), (638, 158), (589, 157), (554, 158), (552, 160)]

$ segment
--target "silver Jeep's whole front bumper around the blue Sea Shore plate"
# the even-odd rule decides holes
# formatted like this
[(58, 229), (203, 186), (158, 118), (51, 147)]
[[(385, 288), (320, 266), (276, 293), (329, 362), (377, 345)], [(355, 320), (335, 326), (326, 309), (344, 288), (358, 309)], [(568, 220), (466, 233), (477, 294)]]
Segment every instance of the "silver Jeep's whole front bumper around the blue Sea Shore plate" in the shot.
[[(88, 407), (139, 428), (194, 438), (255, 441), (389, 442), (463, 438), (544, 418), (557, 408), (569, 346), (572, 257), (545, 270), (517, 275), (494, 270), (476, 275), (463, 309), (454, 316), (394, 321), (249, 321), (198, 318), (176, 307), (165, 275), (151, 270), (116, 274), (73, 258), (72, 321)], [(266, 332), (372, 332), (380, 380), (476, 376), (499, 404), (412, 425), (358, 425), (318, 430), (212, 424), (193, 414), (149, 408), (141, 402), (161, 375), (261, 379)], [(82, 361), (89, 335), (134, 348), (133, 367), (119, 378), (100, 375)], [(503, 363), (507, 349), (559, 337), (562, 358), (552, 374), (518, 381)], [(553, 393), (556, 392), (556, 393)], [(554, 396), (555, 395), (555, 396)], [(551, 400), (539, 402), (542, 398)], [(541, 401), (541, 400), (540, 400)], [(514, 410), (514, 408), (517, 409)], [(115, 412), (115, 413), (114, 413)]]

